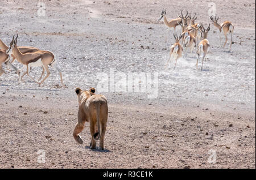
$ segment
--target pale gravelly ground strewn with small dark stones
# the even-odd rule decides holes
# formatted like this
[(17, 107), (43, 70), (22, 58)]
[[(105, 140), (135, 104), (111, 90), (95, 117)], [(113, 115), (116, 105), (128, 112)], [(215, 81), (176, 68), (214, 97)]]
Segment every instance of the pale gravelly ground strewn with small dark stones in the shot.
[[(28, 76), (18, 84), (15, 72), (4, 67), (0, 168), (255, 168), (254, 1), (42, 2), (43, 17), (36, 14), (36, 2), (1, 1), (0, 38), (9, 44), (19, 33), (18, 45), (51, 50), (68, 87), (59, 87), (53, 69), (38, 87)], [(235, 24), (232, 52), (220, 47), (211, 25), (203, 71), (195, 68), (195, 50), (178, 60), (175, 71), (164, 70), (174, 38), (172, 30), (164, 42), (166, 27), (156, 21), (162, 8), (168, 19), (188, 10), (206, 24), (211, 2), (221, 22)], [(119, 92), (111, 85), (98, 92), (108, 98), (109, 121), (106, 150), (92, 151), (88, 124), (81, 133), (85, 145), (72, 136), (78, 105), (74, 90), (97, 91), (99, 73), (110, 76), (113, 70), (115, 82), (118, 72), (157, 72), (158, 87), (152, 90), (157, 96)], [(39, 77), (41, 71), (33, 68), (31, 74)], [(39, 149), (46, 152), (42, 164)], [(216, 151), (215, 164), (208, 162), (209, 151)]]

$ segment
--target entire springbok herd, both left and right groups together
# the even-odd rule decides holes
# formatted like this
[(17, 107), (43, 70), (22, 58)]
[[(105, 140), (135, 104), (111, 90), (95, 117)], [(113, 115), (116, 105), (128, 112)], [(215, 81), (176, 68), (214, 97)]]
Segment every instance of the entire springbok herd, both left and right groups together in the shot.
[[(220, 45), (221, 45), (221, 34), (224, 33), (224, 36), (226, 38), (223, 48), (225, 48), (226, 42), (228, 41), (228, 35), (230, 34), (230, 49), (232, 46), (232, 35), (234, 31), (234, 25), (229, 22), (225, 21), (224, 23), (219, 24), (218, 23), (218, 17), (210, 16), (210, 20), (212, 20), (213, 25), (218, 28), (220, 31)], [(170, 58), (167, 61), (166, 67), (170, 66), (170, 60), (172, 58), (175, 59), (175, 66), (177, 63), (177, 59), (179, 59), (182, 54), (183, 58), (187, 57), (187, 49), (190, 49), (190, 52), (192, 53), (192, 50), (196, 48), (196, 54), (197, 54), (197, 61), (196, 61), (196, 68), (198, 68), (198, 61), (200, 58), (200, 55), (203, 54), (202, 59), (202, 66), (201, 70), (203, 70), (203, 63), (205, 55), (207, 55), (208, 48), (210, 46), (209, 41), (207, 39), (208, 32), (210, 31), (210, 23), (208, 27), (205, 29), (203, 26), (203, 23), (196, 23), (197, 16), (196, 14), (192, 17), (191, 14), (188, 15), (188, 11), (185, 15), (183, 15), (183, 11), (181, 11), (181, 15), (178, 15), (178, 18), (172, 19), (171, 21), (168, 21), (166, 18), (166, 10), (162, 10), (161, 16), (158, 19), (159, 21), (163, 19), (164, 24), (168, 27), (167, 33), (171, 28), (174, 28), (174, 38), (175, 38), (175, 44), (173, 44), (170, 47)], [(181, 33), (178, 36), (176, 33), (176, 27), (177, 25), (180, 25), (181, 27)], [(0, 76), (3, 74), (3, 68), (2, 63), (5, 63), (7, 66), (13, 68), (17, 74), (19, 75), (19, 83), (23, 82), (23, 76), (28, 75), (34, 82), (40, 85), (49, 77), (50, 71), (49, 66), (54, 68), (57, 72), (60, 74), (60, 80), (61, 84), (63, 84), (63, 77), (61, 74), (61, 70), (59, 66), (57, 66), (57, 61), (55, 59), (55, 55), (52, 52), (46, 51), (46, 50), (40, 50), (35, 47), (31, 46), (17, 46), (17, 38), (10, 42), (10, 45), (7, 46), (5, 43), (3, 43), (0, 40)], [(166, 35), (166, 41), (167, 41), (167, 35)], [(21, 70), (18, 70), (13, 65), (14, 60), (17, 60), (19, 63), (22, 63), (23, 68)], [(42, 75), (36, 81), (31, 75), (31, 67), (42, 67)], [(26, 69), (26, 72), (23, 74), (21, 73), (23, 69)], [(43, 78), (44, 72), (47, 72), (46, 76)], [(43, 79), (42, 79), (43, 78)], [(41, 80), (42, 79), (42, 80)], [(41, 80), (41, 81), (40, 81)]]

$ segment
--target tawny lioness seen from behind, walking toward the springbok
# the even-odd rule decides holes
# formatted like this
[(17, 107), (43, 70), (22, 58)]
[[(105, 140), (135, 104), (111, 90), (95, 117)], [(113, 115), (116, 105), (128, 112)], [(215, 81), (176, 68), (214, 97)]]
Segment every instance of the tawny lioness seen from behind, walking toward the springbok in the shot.
[[(82, 91), (76, 88), (76, 94), (79, 101), (78, 123), (73, 132), (73, 136), (77, 143), (82, 144), (83, 141), (79, 133), (84, 129), (85, 122), (90, 122), (90, 134), (92, 141), (91, 149), (96, 149), (96, 140), (100, 138), (100, 149), (104, 149), (104, 136), (106, 132), (106, 122), (108, 121), (108, 102), (103, 95), (96, 95), (95, 88), (89, 91)], [(98, 129), (98, 131), (96, 131)]]

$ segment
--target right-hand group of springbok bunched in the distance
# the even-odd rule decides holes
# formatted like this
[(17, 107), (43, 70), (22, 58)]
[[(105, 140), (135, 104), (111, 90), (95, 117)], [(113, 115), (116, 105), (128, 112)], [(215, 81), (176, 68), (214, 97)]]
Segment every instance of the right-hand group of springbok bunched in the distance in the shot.
[[(231, 51), (232, 46), (232, 35), (234, 31), (234, 25), (229, 22), (225, 21), (221, 24), (218, 23), (218, 17), (215, 16), (209, 16), (210, 20), (212, 20), (213, 25), (218, 28), (220, 31), (220, 46), (221, 46), (221, 35), (224, 34), (226, 40), (223, 45), (223, 48), (225, 48), (226, 42), (228, 41), (228, 35), (230, 34), (230, 48), (229, 52)], [(195, 20), (197, 19), (196, 14), (192, 17), (191, 14), (188, 15), (188, 11), (186, 15), (183, 15), (183, 11), (181, 11), (181, 15), (178, 15), (178, 18), (172, 19), (170, 21), (166, 18), (166, 10), (162, 10), (159, 21), (163, 19), (164, 24), (168, 27), (166, 32), (168, 35), (168, 31), (171, 28), (174, 28), (174, 38), (175, 38), (175, 44), (173, 44), (170, 47), (170, 58), (167, 61), (166, 67), (170, 66), (170, 60), (173, 58), (175, 59), (175, 65), (174, 69), (176, 67), (177, 59), (182, 57), (187, 57), (187, 49), (190, 49), (190, 52), (192, 53), (192, 50), (196, 48), (196, 54), (197, 54), (197, 61), (196, 61), (196, 68), (198, 68), (198, 61), (200, 58), (200, 55), (203, 54), (202, 59), (202, 66), (201, 70), (203, 70), (203, 63), (205, 55), (207, 55), (208, 48), (210, 46), (209, 41), (207, 39), (208, 32), (210, 31), (210, 23), (208, 24), (208, 27), (205, 29), (203, 26), (203, 23), (195, 23)], [(177, 36), (176, 33), (176, 27), (177, 25), (180, 25), (181, 27), (181, 33), (179, 36)], [(166, 35), (166, 42), (167, 42), (167, 35)]]

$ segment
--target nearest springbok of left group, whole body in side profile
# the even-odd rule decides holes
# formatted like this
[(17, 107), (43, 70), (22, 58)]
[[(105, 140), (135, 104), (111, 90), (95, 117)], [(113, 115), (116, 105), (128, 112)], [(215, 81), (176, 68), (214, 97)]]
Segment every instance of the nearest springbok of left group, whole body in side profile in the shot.
[(43, 77), (44, 71), (47, 72), (47, 75), (46, 75), (46, 77), (44, 77), (44, 79), (41, 82), (36, 82), (39, 84), (39, 87), (40, 87), (40, 85), (49, 77), (50, 71), (48, 69), (48, 66), (51, 66), (57, 72), (59, 72), (61, 84), (65, 87), (65, 85), (63, 84), (61, 70), (56, 65), (56, 59), (55, 59), (54, 54), (52, 52), (49, 52), (46, 50), (39, 50), (38, 52), (23, 54), (20, 52), (20, 50), (17, 47), (17, 38), (18, 38), (18, 35), (16, 36), (15, 40), (13, 37), (13, 41), (12, 41), (13, 43), (11, 43), (11, 45), (10, 45), (9, 49), (6, 51), (6, 53), (9, 55), (14, 54), (17, 61), (22, 63), (24, 65), (23, 67), (27, 68), (27, 71), (22, 76), (19, 76), (19, 82), (20, 82), (21, 78), (26, 74), (28, 76), (30, 76), (30, 78), (32, 80), (34, 80), (34, 82), (36, 82), (36, 80), (34, 78), (32, 78), (32, 76), (30, 75), (30, 67), (42, 66), (43, 72), (42, 72), (42, 75), (40, 76), (39, 80)]

